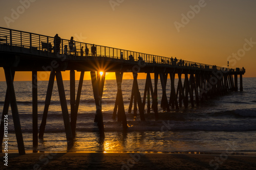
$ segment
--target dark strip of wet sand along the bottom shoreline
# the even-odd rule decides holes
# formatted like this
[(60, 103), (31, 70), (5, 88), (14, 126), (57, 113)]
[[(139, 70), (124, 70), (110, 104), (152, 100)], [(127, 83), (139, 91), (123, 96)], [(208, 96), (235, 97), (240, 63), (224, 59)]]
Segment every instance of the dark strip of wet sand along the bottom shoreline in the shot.
[(17, 153), (0, 154), (1, 169), (256, 169), (250, 155), (164, 153)]

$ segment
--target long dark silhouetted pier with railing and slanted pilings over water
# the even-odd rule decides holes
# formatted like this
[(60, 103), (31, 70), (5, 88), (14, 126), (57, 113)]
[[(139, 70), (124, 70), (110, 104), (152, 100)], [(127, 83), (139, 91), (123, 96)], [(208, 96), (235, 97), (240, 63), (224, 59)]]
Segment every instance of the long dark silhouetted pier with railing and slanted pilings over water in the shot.
[[(215, 65), (177, 60), (156, 55), (127, 51), (118, 48), (94, 45), (90, 43), (75, 42), (72, 50), (69, 48), (70, 40), (61, 39), (59, 47), (54, 43), (54, 37), (33, 34), (7, 28), (0, 28), (0, 66), (4, 68), (7, 90), (0, 127), (1, 147), (4, 138), (4, 118), (11, 106), (14, 129), (19, 154), (25, 154), (25, 147), (20, 126), (15, 90), (13, 86), (16, 71), (32, 71), (32, 121), (33, 121), (33, 150), (38, 146), (38, 137), (44, 136), (48, 109), (51, 101), (54, 79), (56, 78), (60, 105), (65, 125), (68, 145), (73, 144), (76, 130), (77, 112), (82, 92), (85, 71), (91, 72), (93, 94), (96, 105), (95, 122), (99, 134), (104, 137), (104, 125), (101, 112), (101, 98), (105, 80), (105, 72), (115, 72), (117, 82), (117, 95), (113, 111), (113, 118), (122, 122), (123, 130), (127, 129), (126, 116), (122, 98), (123, 72), (133, 73), (133, 87), (129, 113), (134, 105), (134, 115), (137, 115), (137, 105), (141, 120), (145, 120), (144, 110), (147, 101), (147, 113), (153, 109), (158, 119), (157, 83), (160, 78), (162, 87), (161, 108), (170, 109), (194, 107), (207, 98), (223, 95), (230, 91), (238, 91), (238, 75), (240, 76), (240, 91), (243, 91), (242, 75), (245, 69), (223, 68)], [(67, 46), (66, 46), (67, 45)], [(92, 54), (92, 46), (93, 54)], [(65, 49), (66, 46), (66, 49)], [(89, 53), (81, 53), (81, 47), (88, 47)], [(67, 49), (68, 47), (68, 49)], [(59, 50), (58, 50), (59, 48)], [(83, 48), (85, 50), (85, 48)], [(61, 71), (70, 70), (70, 114), (66, 101)], [(75, 91), (75, 70), (80, 71), (80, 80), (77, 92)], [(37, 124), (37, 71), (51, 71), (45, 100), (45, 108), (38, 134)], [(100, 75), (103, 71), (103, 75)], [(144, 87), (138, 86), (139, 72), (146, 74)], [(154, 89), (151, 80), (154, 74)], [(167, 94), (167, 78), (170, 78), (170, 93)], [(184, 81), (182, 81), (184, 75)], [(178, 86), (175, 87), (175, 78)], [(144, 89), (141, 96), (140, 90)], [(167, 98), (168, 96), (168, 98)]]

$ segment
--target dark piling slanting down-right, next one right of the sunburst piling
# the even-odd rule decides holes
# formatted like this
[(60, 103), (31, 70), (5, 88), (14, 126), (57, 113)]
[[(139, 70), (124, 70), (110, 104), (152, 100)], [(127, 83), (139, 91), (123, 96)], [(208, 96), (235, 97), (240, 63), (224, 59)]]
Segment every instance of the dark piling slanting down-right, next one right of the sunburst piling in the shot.
[(124, 111), (123, 94), (122, 94), (122, 79), (123, 72), (116, 72), (116, 83), (117, 83), (117, 103), (118, 103), (118, 117), (121, 117), (123, 129), (127, 129), (127, 120)]

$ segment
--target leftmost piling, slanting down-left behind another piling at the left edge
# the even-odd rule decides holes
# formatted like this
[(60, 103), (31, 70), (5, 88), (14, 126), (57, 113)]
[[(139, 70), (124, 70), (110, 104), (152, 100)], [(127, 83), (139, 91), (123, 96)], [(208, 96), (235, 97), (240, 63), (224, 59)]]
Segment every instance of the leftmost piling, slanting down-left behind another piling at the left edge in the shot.
[[(12, 81), (14, 79), (14, 74), (15, 74), (15, 71), (12, 71)], [(8, 92), (8, 89), (6, 89), (5, 103), (4, 103), (3, 114), (2, 114), (2, 119), (1, 119), (1, 126), (0, 126), (0, 153), (2, 153), (2, 143), (3, 143), (3, 139), (4, 139), (5, 118), (8, 115), (9, 105), (10, 105), (9, 92)]]

